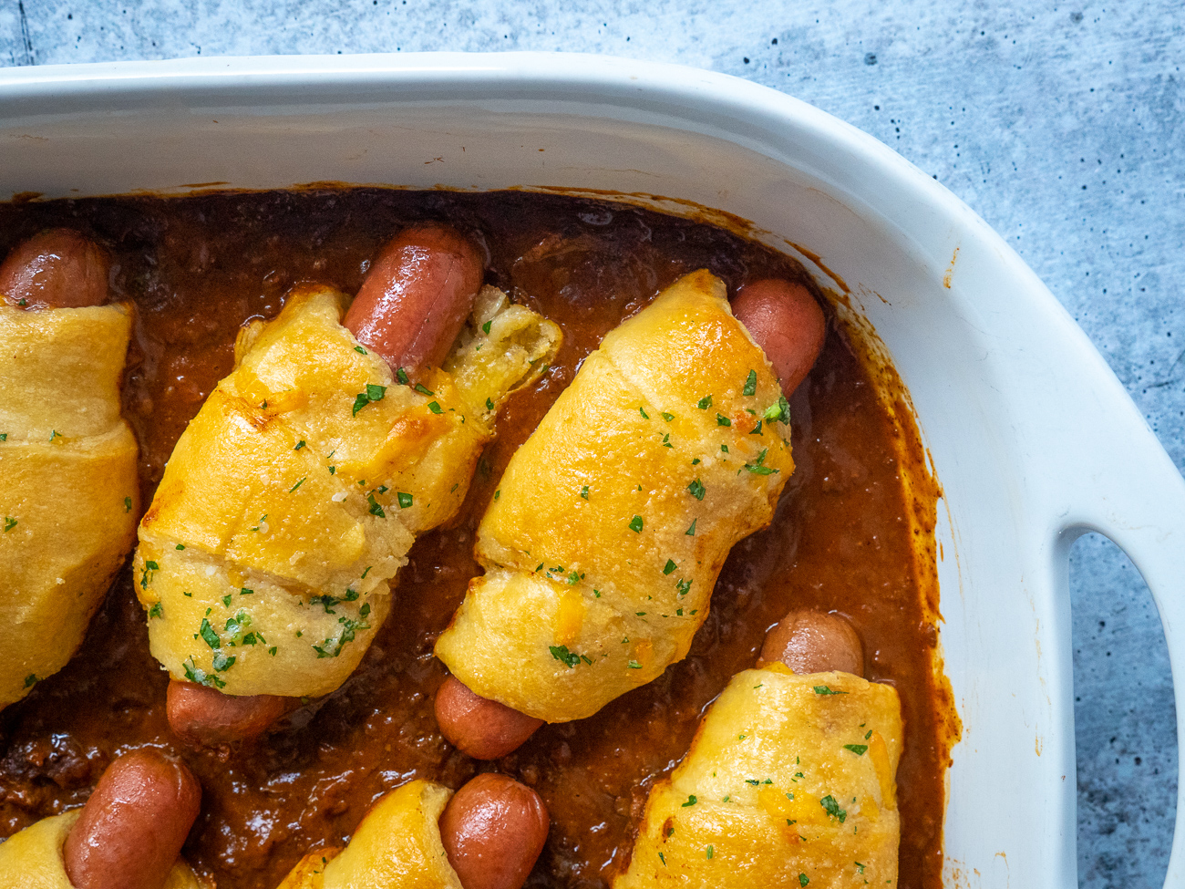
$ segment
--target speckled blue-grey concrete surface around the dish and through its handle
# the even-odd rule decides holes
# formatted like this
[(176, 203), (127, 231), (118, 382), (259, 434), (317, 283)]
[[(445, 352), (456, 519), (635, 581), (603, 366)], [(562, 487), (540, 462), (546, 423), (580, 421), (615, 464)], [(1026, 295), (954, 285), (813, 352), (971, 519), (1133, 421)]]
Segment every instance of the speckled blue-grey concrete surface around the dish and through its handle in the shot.
[[(0, 0), (0, 65), (423, 50), (679, 62), (872, 133), (1016, 247), (1185, 467), (1181, 0)], [(1159, 885), (1177, 742), (1155, 608), (1097, 536), (1071, 588), (1080, 885)]]

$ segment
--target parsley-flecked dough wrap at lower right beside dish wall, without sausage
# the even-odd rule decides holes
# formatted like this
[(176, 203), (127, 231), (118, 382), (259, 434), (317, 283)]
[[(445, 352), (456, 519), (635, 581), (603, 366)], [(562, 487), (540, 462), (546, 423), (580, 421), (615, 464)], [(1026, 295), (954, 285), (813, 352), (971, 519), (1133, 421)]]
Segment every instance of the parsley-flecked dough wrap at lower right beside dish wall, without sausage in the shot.
[(651, 791), (614, 889), (896, 885), (901, 702), (851, 673), (738, 673)]

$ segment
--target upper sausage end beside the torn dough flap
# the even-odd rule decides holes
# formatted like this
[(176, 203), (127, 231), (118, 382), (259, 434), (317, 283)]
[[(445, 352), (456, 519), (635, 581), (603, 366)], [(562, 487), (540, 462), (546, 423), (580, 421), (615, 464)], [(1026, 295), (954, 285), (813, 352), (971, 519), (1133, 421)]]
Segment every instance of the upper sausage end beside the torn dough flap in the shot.
[(379, 252), (342, 324), (391, 369), (440, 366), (481, 288), (476, 248), (447, 225), (415, 225)]

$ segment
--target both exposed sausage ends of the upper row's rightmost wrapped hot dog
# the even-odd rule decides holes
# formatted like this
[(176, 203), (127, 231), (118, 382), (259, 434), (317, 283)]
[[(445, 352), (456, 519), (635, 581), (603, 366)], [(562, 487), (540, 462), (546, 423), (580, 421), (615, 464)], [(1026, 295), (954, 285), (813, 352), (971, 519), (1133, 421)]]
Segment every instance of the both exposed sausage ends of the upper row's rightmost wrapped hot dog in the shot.
[[(742, 288), (732, 302), (732, 313), (764, 352), (775, 375), (781, 379), (782, 391), (792, 392), (819, 357), (826, 334), (822, 311), (809, 292), (802, 284), (788, 281), (756, 281)], [(752, 380), (756, 385), (756, 375)], [(710, 399), (705, 398), (698, 407), (703, 409), (707, 401)], [(642, 415), (648, 416), (645, 409)], [(784, 420), (788, 421), (788, 416), (784, 416)], [(718, 422), (722, 426), (731, 424), (731, 420), (723, 415)], [(750, 420), (749, 424), (751, 422)], [(773, 428), (773, 420), (769, 422)], [(758, 423), (754, 431), (760, 433), (761, 428)], [(748, 426), (745, 429), (748, 430)], [(645, 434), (645, 430), (641, 434)], [(728, 452), (728, 447), (723, 450)], [(696, 463), (699, 462), (697, 459)], [(758, 468), (773, 472), (766, 467)], [(639, 486), (639, 491), (641, 490)], [(702, 493), (703, 488), (696, 495)], [(635, 518), (641, 517), (635, 516)], [(642, 522), (645, 526), (645, 519)], [(670, 565), (672, 570), (675, 569), (674, 561), (670, 562)], [(646, 612), (639, 610), (639, 614)], [(680, 609), (679, 615), (683, 614), (684, 609)], [(446, 632), (446, 637), (448, 634), (449, 631)], [(555, 648), (552, 651), (555, 653)], [(440, 646), (437, 652), (440, 653)], [(571, 655), (568, 646), (563, 648), (563, 653)], [(632, 666), (634, 664), (639, 661), (632, 661)], [(572, 661), (572, 667), (577, 669), (577, 661)], [(449, 677), (437, 692), (436, 719), (446, 738), (468, 755), (482, 760), (505, 756), (542, 724), (542, 719), (518, 712), (504, 702), (479, 696), (456, 677)]]

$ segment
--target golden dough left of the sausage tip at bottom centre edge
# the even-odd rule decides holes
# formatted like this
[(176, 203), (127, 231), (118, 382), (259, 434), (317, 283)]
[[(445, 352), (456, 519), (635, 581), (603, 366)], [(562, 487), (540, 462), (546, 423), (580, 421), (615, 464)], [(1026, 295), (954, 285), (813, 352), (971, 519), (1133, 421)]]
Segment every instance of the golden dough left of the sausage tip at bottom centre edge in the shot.
[(453, 791), (411, 781), (383, 797), (345, 850), (306, 855), (278, 889), (463, 889), (441, 843)]

